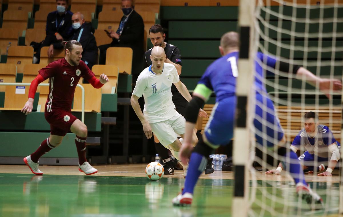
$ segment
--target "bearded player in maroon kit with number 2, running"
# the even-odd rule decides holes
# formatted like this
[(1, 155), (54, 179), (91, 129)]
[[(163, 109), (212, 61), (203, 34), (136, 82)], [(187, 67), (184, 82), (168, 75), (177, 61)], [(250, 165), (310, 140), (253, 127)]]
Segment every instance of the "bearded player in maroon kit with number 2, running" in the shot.
[(108, 78), (105, 74), (100, 79), (81, 60), (82, 46), (78, 41), (70, 40), (64, 44), (64, 58), (55, 60), (40, 69), (38, 76), (31, 82), (28, 100), (21, 110), (25, 115), (33, 109), (34, 95), (38, 84), (49, 78), (49, 95), (45, 103), (45, 119), (50, 124), (50, 137), (45, 139), (39, 148), (24, 158), (25, 164), (36, 175), (43, 175), (38, 169), (38, 159), (53, 148), (59, 146), (63, 137), (71, 131), (76, 134), (75, 144), (79, 156), (79, 170), (87, 175), (97, 172), (86, 160), (87, 126), (71, 114), (71, 103), (75, 88), (81, 77), (93, 87), (101, 88)]

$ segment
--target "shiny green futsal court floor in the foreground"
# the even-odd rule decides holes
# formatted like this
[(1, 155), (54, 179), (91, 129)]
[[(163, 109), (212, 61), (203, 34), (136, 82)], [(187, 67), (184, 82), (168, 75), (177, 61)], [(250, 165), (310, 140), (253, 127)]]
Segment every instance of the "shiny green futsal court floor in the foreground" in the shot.
[[(271, 182), (279, 187), (265, 184), (255, 188), (256, 201), (260, 202), (253, 204), (250, 216), (338, 213), (338, 183), (317, 183), (317, 192), (324, 202), (330, 203), (326, 203), (326, 211), (311, 211), (307, 204), (298, 202), (295, 187), (290, 182), (268, 183)], [(200, 179), (192, 206), (173, 207), (171, 199), (183, 184), (184, 179), (166, 177), (152, 182), (143, 177), (0, 173), (0, 216), (231, 216), (233, 180)], [(276, 198), (299, 203), (303, 208), (287, 207)], [(261, 202), (267, 208), (262, 210)], [(268, 207), (273, 207), (274, 214), (267, 211)]]

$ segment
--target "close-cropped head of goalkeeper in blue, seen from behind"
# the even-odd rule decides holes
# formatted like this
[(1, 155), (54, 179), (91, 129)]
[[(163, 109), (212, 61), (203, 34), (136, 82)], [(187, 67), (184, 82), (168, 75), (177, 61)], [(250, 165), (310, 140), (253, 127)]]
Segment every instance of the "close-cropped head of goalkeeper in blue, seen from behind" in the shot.
[(227, 32), (220, 39), (219, 50), (224, 56), (233, 51), (239, 50), (239, 34), (237, 32)]

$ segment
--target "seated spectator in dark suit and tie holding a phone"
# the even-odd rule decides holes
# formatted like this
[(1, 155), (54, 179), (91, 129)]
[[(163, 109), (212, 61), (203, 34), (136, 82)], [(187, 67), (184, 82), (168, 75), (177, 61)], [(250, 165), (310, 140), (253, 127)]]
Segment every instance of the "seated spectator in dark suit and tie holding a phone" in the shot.
[(131, 47), (132, 56), (132, 74), (141, 72), (143, 41), (144, 41), (144, 23), (141, 15), (134, 10), (133, 0), (122, 0), (121, 10), (123, 17), (117, 31), (110, 31), (109, 37), (112, 38), (111, 44), (101, 45), (99, 64), (106, 62), (106, 50), (109, 47)]

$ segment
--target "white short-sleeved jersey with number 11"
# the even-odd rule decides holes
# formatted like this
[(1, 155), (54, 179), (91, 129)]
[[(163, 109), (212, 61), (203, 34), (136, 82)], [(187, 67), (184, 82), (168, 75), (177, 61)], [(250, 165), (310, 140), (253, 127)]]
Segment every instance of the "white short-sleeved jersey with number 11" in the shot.
[(169, 63), (164, 63), (161, 75), (156, 75), (151, 66), (140, 73), (132, 94), (144, 96), (143, 113), (149, 123), (166, 121), (177, 113), (171, 85), (179, 80), (175, 66)]

